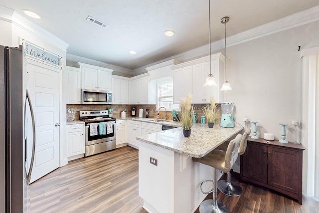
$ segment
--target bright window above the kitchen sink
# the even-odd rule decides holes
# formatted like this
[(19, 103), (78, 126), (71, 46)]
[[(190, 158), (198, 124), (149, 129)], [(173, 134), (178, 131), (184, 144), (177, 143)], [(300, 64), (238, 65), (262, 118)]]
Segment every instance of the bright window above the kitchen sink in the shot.
[(178, 109), (179, 104), (173, 104), (173, 80), (165, 79), (157, 82), (157, 108), (165, 107), (166, 110)]

